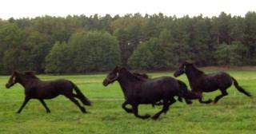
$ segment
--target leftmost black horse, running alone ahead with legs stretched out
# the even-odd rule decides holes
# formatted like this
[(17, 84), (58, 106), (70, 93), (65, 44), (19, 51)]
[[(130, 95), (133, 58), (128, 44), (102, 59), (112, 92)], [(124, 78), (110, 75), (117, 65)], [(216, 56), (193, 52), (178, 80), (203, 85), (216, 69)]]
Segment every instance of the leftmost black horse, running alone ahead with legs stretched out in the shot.
[[(52, 99), (58, 95), (64, 95), (69, 98), (70, 101), (74, 102), (82, 112), (86, 112), (79, 102), (74, 98), (78, 98), (82, 101), (82, 104), (90, 105), (90, 101), (82, 94), (76, 85), (72, 81), (68, 80), (56, 80), (56, 81), (41, 81), (38, 77), (34, 75), (33, 72), (18, 73), (14, 72), (8, 83), (6, 83), (6, 88), (9, 89), (14, 84), (19, 83), (25, 88), (25, 100), (22, 107), (19, 108), (17, 113), (22, 112), (22, 108), (26, 105), (30, 99), (38, 99), (42, 105), (46, 108), (46, 112), (50, 112), (44, 99)], [(73, 93), (73, 89), (76, 94)]]

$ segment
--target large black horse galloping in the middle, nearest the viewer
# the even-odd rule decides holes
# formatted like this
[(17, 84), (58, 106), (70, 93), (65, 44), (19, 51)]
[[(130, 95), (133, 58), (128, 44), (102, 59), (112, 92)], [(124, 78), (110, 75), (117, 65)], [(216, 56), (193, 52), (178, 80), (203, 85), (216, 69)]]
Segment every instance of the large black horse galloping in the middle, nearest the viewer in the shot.
[[(146, 79), (120, 67), (115, 67), (102, 84), (107, 86), (114, 81), (119, 82), (124, 93), (126, 101), (122, 108), (142, 119), (149, 118), (150, 115), (138, 115), (138, 104), (156, 104), (162, 101), (162, 110), (153, 116), (153, 119), (158, 119), (162, 112), (166, 113), (169, 110), (170, 104), (174, 104), (175, 96), (185, 97), (184, 94), (188, 92), (184, 85), (180, 85), (173, 77)], [(131, 104), (132, 108), (126, 108), (127, 104)]]

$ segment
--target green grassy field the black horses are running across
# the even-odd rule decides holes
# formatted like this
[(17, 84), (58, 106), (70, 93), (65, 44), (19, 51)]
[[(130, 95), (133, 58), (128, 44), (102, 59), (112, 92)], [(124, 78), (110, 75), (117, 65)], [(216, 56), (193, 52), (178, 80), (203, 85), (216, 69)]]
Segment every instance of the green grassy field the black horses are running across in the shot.
[[(211, 72), (211, 71), (208, 71)], [(256, 97), (256, 71), (230, 71), (244, 89)], [(150, 73), (151, 77), (172, 76), (172, 72)], [(6, 89), (4, 85), (9, 77), (0, 77), (0, 133), (132, 133), (132, 134), (166, 134), (166, 133), (256, 133), (256, 99), (250, 99), (239, 93), (234, 86), (228, 89), (229, 95), (218, 101), (218, 104), (191, 105), (176, 102), (160, 120), (141, 120), (122, 108), (122, 91), (118, 83), (102, 86), (106, 74), (49, 76), (39, 75), (42, 80), (66, 78), (74, 81), (86, 97), (93, 102), (87, 107), (90, 113), (82, 114), (71, 101), (59, 96), (46, 101), (51, 113), (46, 114), (42, 104), (37, 100), (30, 101), (21, 114), (16, 114), (21, 106), (24, 90), (21, 85)], [(178, 77), (186, 81), (186, 77)], [(220, 94), (205, 93), (204, 98), (214, 98)], [(159, 106), (140, 105), (139, 113), (153, 115), (160, 110)]]

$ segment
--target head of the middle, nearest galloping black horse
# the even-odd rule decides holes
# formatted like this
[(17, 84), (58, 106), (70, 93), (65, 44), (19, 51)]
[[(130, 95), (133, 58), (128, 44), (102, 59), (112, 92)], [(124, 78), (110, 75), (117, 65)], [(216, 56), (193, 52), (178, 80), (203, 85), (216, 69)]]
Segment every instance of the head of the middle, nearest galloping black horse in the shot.
[(104, 81), (102, 82), (102, 84), (104, 86), (109, 85), (110, 83), (113, 83), (114, 81), (118, 80), (118, 72), (121, 70), (122, 68), (116, 66), (104, 79)]

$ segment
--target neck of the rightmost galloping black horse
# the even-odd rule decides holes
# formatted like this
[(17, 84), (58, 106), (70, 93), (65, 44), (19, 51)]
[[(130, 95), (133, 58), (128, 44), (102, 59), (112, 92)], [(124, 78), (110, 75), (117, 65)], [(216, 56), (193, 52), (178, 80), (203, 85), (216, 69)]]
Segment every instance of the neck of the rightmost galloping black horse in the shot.
[(186, 70), (186, 77), (190, 81), (190, 85), (194, 83), (194, 81), (198, 80), (198, 78), (202, 77), (204, 73), (196, 68), (192, 68)]

